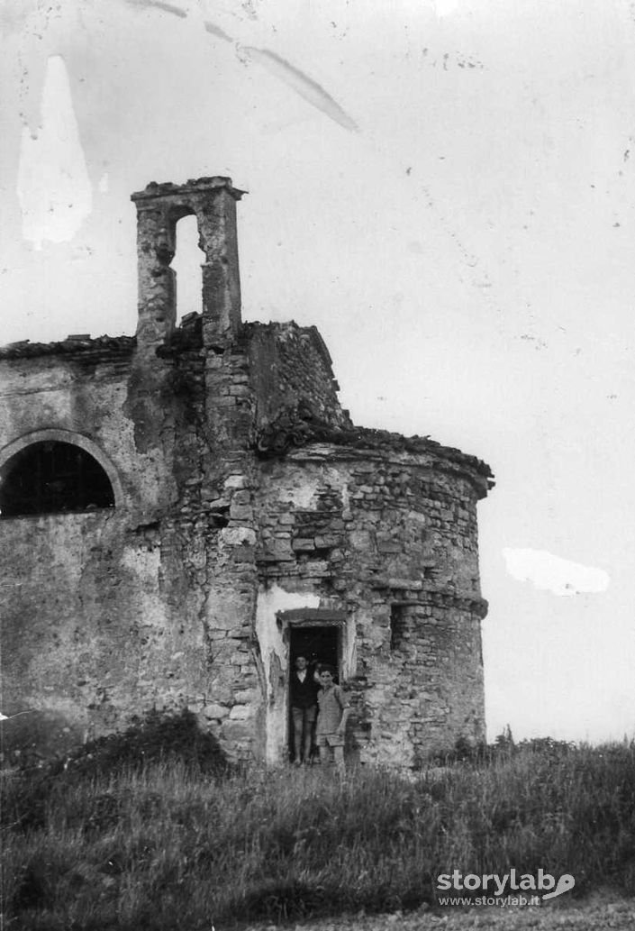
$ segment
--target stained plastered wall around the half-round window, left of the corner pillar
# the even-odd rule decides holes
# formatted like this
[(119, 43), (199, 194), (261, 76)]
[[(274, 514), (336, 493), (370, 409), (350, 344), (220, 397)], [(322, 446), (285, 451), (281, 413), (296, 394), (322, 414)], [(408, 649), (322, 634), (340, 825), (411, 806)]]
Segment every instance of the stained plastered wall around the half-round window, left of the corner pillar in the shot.
[(116, 489), (112, 509), (0, 520), (2, 710), (46, 712), (68, 739), (207, 685), (203, 631), (183, 623), (198, 598), (180, 555), (189, 542), (163, 520), (182, 481), (179, 405), (164, 391), (145, 404), (150, 422), (135, 419), (133, 345), (97, 348), (25, 347), (1, 363), (0, 465), (17, 442), (69, 442)]

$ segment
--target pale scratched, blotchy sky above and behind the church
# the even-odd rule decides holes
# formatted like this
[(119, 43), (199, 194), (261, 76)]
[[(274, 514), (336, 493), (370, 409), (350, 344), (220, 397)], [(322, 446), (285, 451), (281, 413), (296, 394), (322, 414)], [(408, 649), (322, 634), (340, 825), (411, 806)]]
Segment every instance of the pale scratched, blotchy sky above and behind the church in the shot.
[(130, 193), (229, 175), (244, 318), (315, 323), (359, 425), (493, 467), (490, 737), (634, 735), (630, 0), (6, 0), (0, 29), (0, 341), (134, 332)]

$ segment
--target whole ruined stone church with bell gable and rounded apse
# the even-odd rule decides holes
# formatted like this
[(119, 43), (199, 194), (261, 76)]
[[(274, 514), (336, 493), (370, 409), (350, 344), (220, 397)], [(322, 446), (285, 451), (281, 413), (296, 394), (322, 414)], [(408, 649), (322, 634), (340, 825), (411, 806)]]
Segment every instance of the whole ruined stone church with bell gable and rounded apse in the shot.
[[(484, 735), (491, 472), (353, 425), (315, 327), (242, 321), (240, 196), (132, 196), (136, 335), (0, 349), (0, 710), (79, 741), (189, 708), (230, 756), (283, 762), (302, 653), (348, 690), (350, 757), (415, 765)], [(202, 305), (177, 326), (187, 215)]]

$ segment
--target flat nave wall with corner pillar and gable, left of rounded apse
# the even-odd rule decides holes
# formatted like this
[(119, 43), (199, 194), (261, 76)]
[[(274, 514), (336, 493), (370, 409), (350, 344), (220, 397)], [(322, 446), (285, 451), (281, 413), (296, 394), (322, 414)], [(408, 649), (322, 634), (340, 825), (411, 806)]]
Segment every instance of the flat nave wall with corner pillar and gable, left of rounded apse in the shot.
[[(183, 321), (150, 358), (139, 337), (0, 350), (0, 466), (17, 442), (56, 439), (119, 489), (108, 512), (0, 520), (2, 710), (46, 708), (69, 740), (188, 707), (230, 754), (263, 753), (254, 412), (308, 373), (317, 420), (347, 420), (310, 329), (251, 325), (207, 353), (201, 323)], [(263, 344), (279, 381), (252, 376), (271, 373)]]

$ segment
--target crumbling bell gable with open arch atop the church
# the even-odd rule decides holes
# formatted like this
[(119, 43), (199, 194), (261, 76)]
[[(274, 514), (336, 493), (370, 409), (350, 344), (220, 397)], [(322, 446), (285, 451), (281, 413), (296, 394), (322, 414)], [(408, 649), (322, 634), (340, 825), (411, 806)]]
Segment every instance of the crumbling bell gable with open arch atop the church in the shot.
[(203, 343), (223, 347), (240, 328), (240, 279), (236, 239), (238, 191), (231, 178), (197, 178), (185, 184), (151, 182), (133, 194), (137, 207), (139, 275), (138, 350), (154, 355), (176, 324), (177, 223), (196, 216), (202, 269)]

